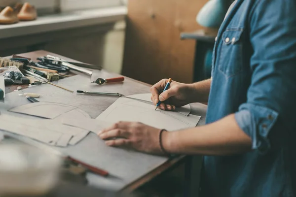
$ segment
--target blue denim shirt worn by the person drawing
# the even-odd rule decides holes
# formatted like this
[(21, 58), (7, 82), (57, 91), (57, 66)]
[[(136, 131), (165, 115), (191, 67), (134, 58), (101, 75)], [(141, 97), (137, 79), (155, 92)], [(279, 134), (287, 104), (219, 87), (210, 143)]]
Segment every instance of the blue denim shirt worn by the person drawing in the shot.
[(237, 0), (213, 53), (206, 123), (235, 114), (252, 151), (205, 156), (203, 197), (296, 194), (296, 0)]

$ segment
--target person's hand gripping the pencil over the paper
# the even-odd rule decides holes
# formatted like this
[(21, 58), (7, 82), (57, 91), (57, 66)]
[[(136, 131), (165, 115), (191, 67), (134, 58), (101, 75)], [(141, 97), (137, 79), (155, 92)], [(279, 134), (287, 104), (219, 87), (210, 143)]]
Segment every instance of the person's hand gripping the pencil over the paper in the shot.
[(190, 103), (190, 94), (193, 93), (190, 84), (179, 83), (172, 80), (169, 88), (162, 93), (167, 81), (168, 79), (162, 79), (150, 88), (152, 94), (151, 100), (155, 105), (160, 100), (161, 104), (159, 108), (163, 110), (175, 110), (176, 107), (181, 107)]

